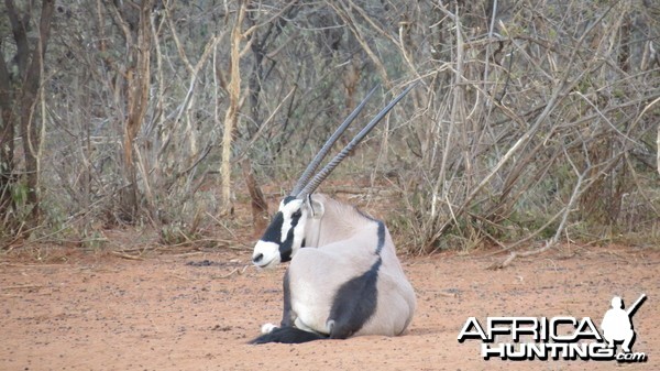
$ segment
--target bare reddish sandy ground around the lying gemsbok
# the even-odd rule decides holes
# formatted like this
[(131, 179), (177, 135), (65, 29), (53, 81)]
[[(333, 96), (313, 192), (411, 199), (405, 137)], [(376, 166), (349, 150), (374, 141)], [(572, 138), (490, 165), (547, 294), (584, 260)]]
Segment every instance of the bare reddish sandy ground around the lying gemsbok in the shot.
[[(403, 259), (418, 295), (406, 335), (250, 346), (278, 323), (284, 268), (209, 250), (142, 261), (51, 252), (0, 255), (0, 370), (660, 370), (660, 251), (562, 247), (485, 268), (487, 251)], [(207, 262), (205, 262), (207, 261)], [(194, 264), (190, 264), (194, 263)], [(614, 295), (648, 299), (634, 316), (646, 363), (484, 360), (457, 340), (470, 316), (592, 317)]]

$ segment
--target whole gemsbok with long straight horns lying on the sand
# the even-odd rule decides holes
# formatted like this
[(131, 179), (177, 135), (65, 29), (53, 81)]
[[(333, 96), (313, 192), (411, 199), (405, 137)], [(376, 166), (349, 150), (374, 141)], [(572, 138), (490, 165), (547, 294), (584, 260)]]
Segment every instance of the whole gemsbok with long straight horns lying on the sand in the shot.
[(370, 91), (279, 204), (254, 247), (252, 261), (258, 268), (290, 261), (284, 275), (284, 313), (279, 327), (263, 325), (263, 335), (251, 343), (397, 336), (410, 324), (415, 292), (396, 257), (387, 227), (354, 206), (312, 193), (413, 87), (415, 84), (378, 112), (309, 181), (375, 88)]

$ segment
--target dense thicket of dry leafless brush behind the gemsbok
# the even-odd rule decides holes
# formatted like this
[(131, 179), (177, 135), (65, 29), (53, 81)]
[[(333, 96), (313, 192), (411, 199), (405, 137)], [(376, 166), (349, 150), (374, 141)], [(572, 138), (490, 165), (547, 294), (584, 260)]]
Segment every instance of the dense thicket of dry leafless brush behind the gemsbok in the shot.
[(366, 111), (420, 84), (330, 183), (362, 189), (403, 250), (658, 240), (654, 4), (61, 7), (33, 112), (43, 214), (29, 222), (16, 133), (6, 245), (237, 240), (242, 176), (284, 195), (377, 81)]

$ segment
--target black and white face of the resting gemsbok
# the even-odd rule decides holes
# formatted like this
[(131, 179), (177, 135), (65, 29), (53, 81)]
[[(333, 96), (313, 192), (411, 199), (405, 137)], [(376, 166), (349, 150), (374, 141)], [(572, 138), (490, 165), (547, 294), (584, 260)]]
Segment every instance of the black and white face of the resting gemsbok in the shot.
[(273, 217), (264, 236), (254, 245), (252, 262), (258, 268), (274, 268), (292, 260), (305, 239), (307, 203), (293, 196), (279, 203), (279, 210)]

